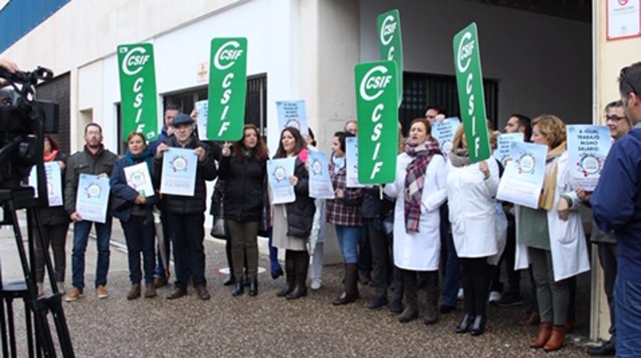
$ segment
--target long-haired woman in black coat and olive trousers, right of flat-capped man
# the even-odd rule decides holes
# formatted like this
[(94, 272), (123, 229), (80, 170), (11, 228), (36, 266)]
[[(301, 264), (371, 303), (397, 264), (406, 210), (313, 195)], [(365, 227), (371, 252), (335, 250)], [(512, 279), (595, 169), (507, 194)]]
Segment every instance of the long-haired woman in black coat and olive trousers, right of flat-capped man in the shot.
[(258, 128), (246, 124), (243, 138), (222, 148), (219, 179), (226, 181), (225, 220), (231, 240), (231, 257), (236, 282), (231, 295), (244, 292), (243, 262), (247, 255), (249, 295), (258, 295), (258, 229), (263, 214), (267, 174), (267, 147)]

